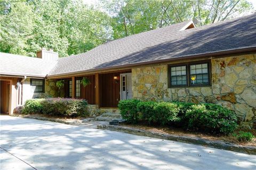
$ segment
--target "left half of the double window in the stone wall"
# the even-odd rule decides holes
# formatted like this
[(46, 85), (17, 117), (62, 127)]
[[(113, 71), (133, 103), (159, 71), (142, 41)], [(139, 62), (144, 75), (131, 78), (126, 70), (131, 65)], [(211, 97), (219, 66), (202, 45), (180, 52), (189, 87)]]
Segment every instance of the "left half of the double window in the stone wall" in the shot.
[(171, 67), (171, 86), (187, 86), (187, 66)]

